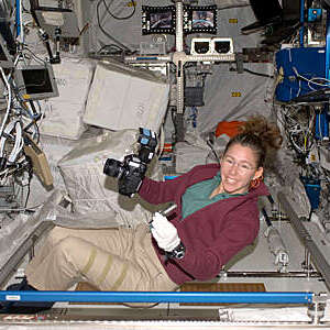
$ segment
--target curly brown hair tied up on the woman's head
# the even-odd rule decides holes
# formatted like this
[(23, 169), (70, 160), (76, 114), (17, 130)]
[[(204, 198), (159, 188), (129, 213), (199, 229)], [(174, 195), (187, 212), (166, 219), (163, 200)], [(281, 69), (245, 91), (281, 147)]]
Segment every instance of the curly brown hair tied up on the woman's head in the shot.
[(227, 144), (224, 153), (233, 145), (251, 147), (257, 156), (257, 167), (264, 166), (267, 154), (280, 148), (283, 138), (279, 128), (264, 116), (251, 116), (239, 129), (239, 134)]

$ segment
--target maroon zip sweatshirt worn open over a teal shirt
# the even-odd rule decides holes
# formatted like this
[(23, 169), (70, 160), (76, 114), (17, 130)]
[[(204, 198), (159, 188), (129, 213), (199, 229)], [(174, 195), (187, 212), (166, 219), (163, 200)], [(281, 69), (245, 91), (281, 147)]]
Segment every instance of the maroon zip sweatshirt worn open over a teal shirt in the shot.
[(168, 276), (178, 285), (215, 278), (233, 255), (257, 237), (257, 197), (270, 194), (263, 183), (244, 196), (218, 200), (183, 220), (182, 196), (186, 188), (212, 178), (218, 172), (218, 164), (208, 164), (196, 166), (167, 182), (145, 177), (139, 190), (139, 195), (150, 204), (172, 201), (177, 205), (168, 219), (186, 246), (185, 256), (182, 260), (166, 260), (155, 240), (153, 244)]

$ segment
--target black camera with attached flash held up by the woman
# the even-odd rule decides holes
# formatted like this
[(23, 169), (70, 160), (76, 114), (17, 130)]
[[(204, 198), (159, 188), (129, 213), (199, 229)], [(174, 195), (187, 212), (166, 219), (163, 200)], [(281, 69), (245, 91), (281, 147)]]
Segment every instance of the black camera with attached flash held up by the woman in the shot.
[(138, 193), (145, 176), (147, 164), (152, 161), (157, 146), (156, 134), (146, 129), (140, 129), (136, 154), (127, 155), (122, 162), (108, 158), (103, 173), (118, 178), (119, 194), (132, 197)]

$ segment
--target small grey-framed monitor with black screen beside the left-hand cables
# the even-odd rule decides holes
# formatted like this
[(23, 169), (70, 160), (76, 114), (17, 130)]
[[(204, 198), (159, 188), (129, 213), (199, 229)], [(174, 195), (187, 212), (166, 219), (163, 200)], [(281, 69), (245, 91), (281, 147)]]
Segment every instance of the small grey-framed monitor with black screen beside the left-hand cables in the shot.
[(14, 81), (24, 100), (42, 100), (58, 96), (51, 65), (30, 65), (14, 70)]

